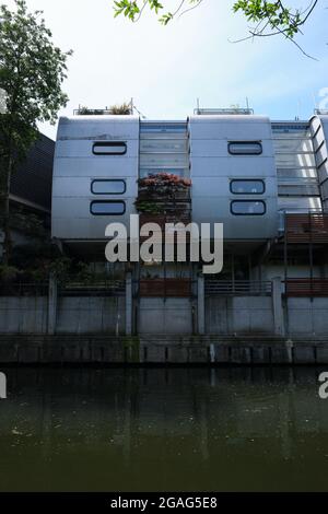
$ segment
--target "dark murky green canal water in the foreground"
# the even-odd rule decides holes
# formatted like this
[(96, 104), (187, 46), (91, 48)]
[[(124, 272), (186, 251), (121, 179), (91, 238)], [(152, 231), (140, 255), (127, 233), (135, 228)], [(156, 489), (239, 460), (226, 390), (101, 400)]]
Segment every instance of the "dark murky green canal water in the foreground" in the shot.
[(1, 371), (1, 491), (328, 491), (320, 370)]

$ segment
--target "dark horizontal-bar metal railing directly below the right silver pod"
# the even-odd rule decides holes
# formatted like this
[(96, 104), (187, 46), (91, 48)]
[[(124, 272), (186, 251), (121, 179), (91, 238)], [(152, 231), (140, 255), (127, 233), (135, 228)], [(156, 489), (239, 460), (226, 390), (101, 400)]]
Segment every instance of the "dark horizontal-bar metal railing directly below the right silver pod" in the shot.
[(254, 280), (209, 280), (204, 282), (204, 291), (211, 295), (267, 296), (272, 294), (272, 282)]

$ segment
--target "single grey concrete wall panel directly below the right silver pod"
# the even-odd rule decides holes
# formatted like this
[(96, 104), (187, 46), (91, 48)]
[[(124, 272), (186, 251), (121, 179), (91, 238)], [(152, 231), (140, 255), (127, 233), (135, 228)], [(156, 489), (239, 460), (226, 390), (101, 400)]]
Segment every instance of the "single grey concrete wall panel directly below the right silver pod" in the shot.
[(206, 334), (273, 334), (270, 296), (207, 296)]

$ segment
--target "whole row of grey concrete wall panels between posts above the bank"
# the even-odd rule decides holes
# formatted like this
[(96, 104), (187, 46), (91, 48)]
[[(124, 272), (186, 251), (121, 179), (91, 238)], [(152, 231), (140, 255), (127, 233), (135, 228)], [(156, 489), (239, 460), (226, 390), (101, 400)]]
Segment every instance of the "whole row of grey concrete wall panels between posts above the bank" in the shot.
[[(126, 332), (126, 299), (59, 297), (56, 334)], [(328, 297), (289, 299), (284, 304), (285, 335), (328, 337)], [(208, 335), (274, 335), (270, 296), (207, 296), (204, 332)], [(138, 332), (150, 335), (190, 335), (192, 302), (188, 299), (141, 299)], [(196, 327), (197, 328), (197, 327)], [(46, 335), (46, 296), (0, 297), (0, 334)], [(276, 332), (277, 335), (277, 332)]]

